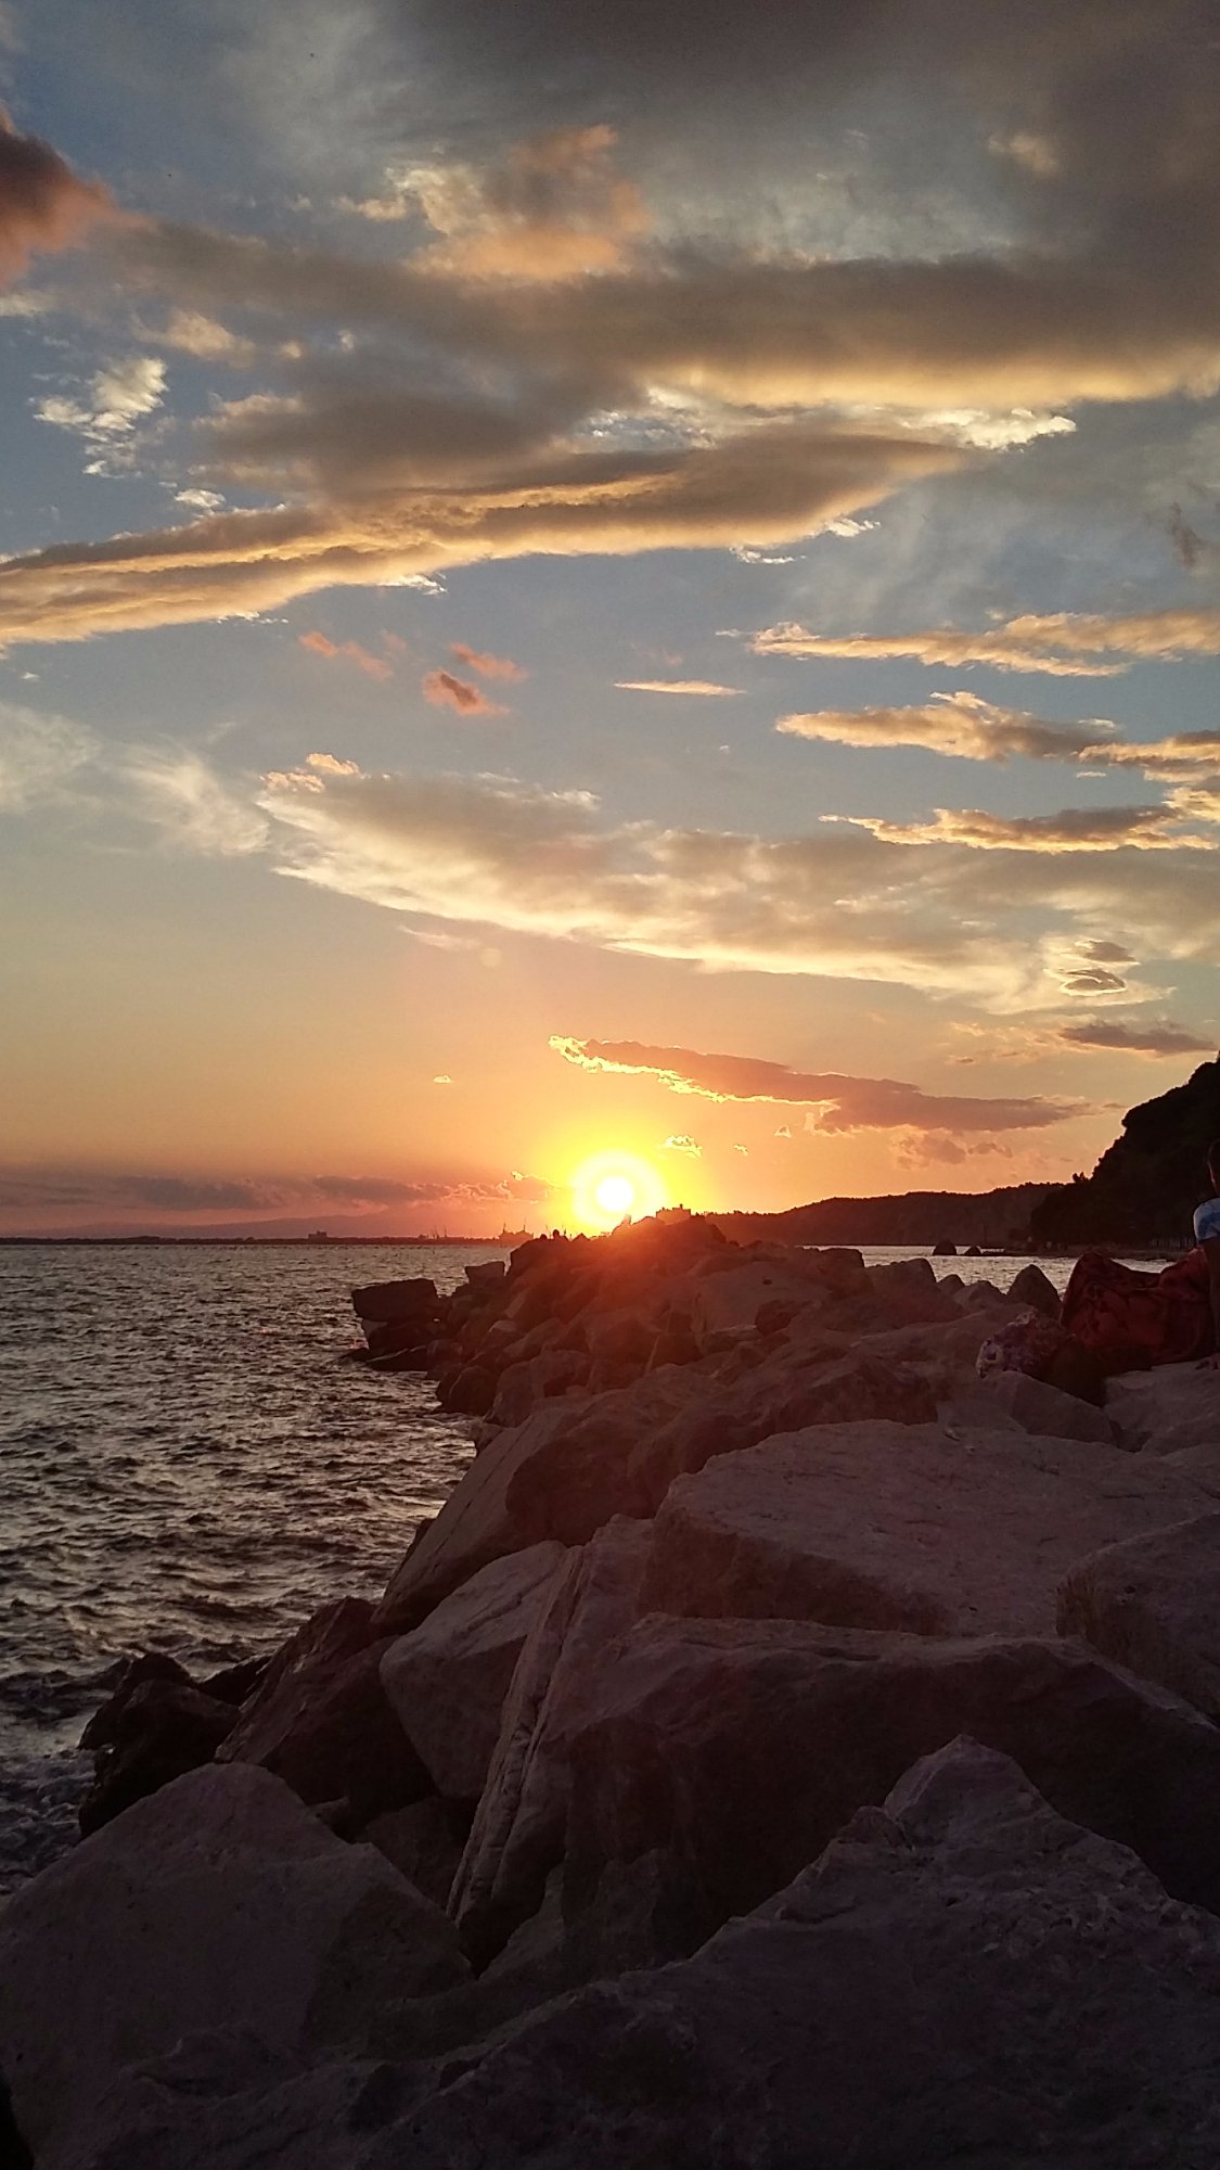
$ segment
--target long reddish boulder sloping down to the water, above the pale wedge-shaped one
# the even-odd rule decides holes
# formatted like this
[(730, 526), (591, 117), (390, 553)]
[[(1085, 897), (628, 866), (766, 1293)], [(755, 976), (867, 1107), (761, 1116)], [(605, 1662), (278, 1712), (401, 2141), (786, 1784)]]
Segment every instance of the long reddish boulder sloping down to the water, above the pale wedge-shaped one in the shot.
[(666, 1365), (588, 1402), (543, 1402), (519, 1430), (501, 1432), (402, 1560), (373, 1632), (417, 1628), (449, 1591), (508, 1552), (547, 1539), (582, 1545), (612, 1515), (634, 1512), (632, 1450), (703, 1384), (690, 1365)]

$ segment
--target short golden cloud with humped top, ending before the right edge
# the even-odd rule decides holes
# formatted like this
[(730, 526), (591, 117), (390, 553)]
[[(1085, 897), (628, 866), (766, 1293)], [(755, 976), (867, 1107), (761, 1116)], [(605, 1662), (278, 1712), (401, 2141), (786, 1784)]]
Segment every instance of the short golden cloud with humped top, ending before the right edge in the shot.
[[(1088, 753), (1105, 760), (1098, 731), (1114, 725), (1042, 723), (1025, 710), (999, 707), (973, 692), (936, 692), (920, 707), (818, 710), (781, 716), (775, 725), (790, 738), (816, 738), (838, 746), (923, 746), (964, 762), (1070, 762)], [(1218, 733), (1220, 744), (1220, 733)]]

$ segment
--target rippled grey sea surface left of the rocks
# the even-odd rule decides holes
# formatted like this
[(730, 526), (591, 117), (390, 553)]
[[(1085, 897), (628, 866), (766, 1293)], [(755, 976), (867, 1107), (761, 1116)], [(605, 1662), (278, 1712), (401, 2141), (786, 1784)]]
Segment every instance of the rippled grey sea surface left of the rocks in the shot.
[(117, 1658), (215, 1669), (384, 1586), (469, 1443), (343, 1361), (350, 1289), (491, 1256), (0, 1243), (0, 1888), (59, 1851)]

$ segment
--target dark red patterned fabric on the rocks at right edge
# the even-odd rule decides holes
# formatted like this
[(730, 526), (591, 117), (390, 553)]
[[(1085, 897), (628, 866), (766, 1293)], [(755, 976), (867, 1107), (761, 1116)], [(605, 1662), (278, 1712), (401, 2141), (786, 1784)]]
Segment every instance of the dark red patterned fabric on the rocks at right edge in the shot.
[(1216, 1348), (1211, 1278), (1200, 1246), (1161, 1274), (1085, 1250), (1064, 1295), (1064, 1326), (1111, 1371), (1190, 1363)]

